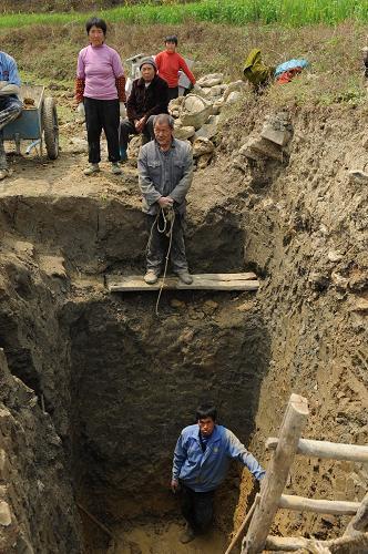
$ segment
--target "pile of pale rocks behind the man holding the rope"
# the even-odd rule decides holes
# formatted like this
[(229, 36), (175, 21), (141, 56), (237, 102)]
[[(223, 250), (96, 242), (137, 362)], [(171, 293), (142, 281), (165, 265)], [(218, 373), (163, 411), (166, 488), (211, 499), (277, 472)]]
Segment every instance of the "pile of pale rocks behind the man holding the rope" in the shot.
[(175, 117), (174, 135), (193, 144), (197, 167), (205, 167), (215, 151), (212, 141), (218, 131), (224, 105), (236, 102), (245, 86), (243, 81), (224, 84), (223, 73), (211, 73), (197, 81), (201, 94), (187, 94), (170, 102), (168, 112)]

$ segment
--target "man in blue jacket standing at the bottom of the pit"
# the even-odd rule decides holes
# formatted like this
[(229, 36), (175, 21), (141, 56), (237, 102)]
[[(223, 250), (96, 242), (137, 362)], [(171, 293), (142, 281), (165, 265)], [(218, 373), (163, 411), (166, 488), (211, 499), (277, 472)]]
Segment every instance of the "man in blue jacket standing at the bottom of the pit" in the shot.
[(193, 541), (205, 532), (213, 517), (213, 497), (224, 481), (229, 460), (238, 460), (260, 481), (265, 476), (257, 460), (235, 434), (216, 423), (216, 408), (197, 408), (194, 425), (183, 429), (174, 451), (172, 491), (181, 491), (182, 513), (187, 524), (180, 540)]

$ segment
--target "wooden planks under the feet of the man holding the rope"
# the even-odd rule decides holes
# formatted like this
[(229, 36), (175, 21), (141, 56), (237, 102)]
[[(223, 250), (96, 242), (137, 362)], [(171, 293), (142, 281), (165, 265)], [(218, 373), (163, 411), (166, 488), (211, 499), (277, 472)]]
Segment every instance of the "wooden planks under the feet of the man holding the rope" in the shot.
[[(162, 278), (154, 285), (147, 285), (143, 276), (132, 277), (106, 277), (106, 286), (110, 293), (134, 293), (139, 290), (160, 290)], [(193, 283), (185, 285), (177, 277), (166, 277), (164, 289), (175, 290), (257, 290), (258, 280), (251, 279), (208, 279), (206, 275), (193, 275)]]

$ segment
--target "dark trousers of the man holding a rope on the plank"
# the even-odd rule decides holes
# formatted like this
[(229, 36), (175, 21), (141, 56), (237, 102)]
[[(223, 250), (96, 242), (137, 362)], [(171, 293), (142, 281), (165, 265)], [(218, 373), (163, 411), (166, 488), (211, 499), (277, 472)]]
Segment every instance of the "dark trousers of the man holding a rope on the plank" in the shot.
[[(164, 228), (165, 222), (162, 213), (155, 222), (155, 215), (147, 215), (147, 229), (151, 233), (151, 240), (146, 254), (147, 270), (153, 269), (160, 275), (165, 264), (170, 239), (165, 233), (160, 233)], [(171, 222), (166, 223), (166, 232), (171, 228)], [(187, 270), (184, 243), (184, 215), (175, 214), (173, 226), (173, 238), (170, 250), (170, 261), (174, 271)]]

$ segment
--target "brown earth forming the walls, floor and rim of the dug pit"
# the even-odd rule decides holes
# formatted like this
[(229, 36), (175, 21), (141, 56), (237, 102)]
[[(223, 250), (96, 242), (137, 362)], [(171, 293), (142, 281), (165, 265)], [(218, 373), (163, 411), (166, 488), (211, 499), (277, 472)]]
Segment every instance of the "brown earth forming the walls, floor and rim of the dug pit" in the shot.
[[(266, 99), (245, 99), (190, 193), (192, 270), (253, 269), (260, 289), (165, 293), (160, 318), (155, 294), (104, 286), (105, 275), (144, 269), (134, 164), (122, 177), (108, 164), (84, 177), (73, 116), (55, 162), (12, 157), (0, 185), (3, 552), (106, 552), (109, 537), (76, 502), (120, 537), (117, 552), (182, 552), (171, 456), (203, 398), (265, 465), (292, 392), (308, 399), (306, 437), (367, 442), (368, 188), (348, 175), (366, 164), (367, 113), (287, 110), (283, 163), (234, 165), (273, 113)], [(362, 464), (298, 458), (288, 493), (357, 501), (367, 476)], [(221, 552), (254, 493), (234, 466), (212, 542), (183, 552)], [(346, 523), (280, 511), (273, 532), (337, 536)]]

